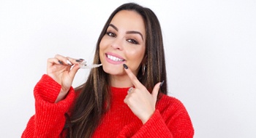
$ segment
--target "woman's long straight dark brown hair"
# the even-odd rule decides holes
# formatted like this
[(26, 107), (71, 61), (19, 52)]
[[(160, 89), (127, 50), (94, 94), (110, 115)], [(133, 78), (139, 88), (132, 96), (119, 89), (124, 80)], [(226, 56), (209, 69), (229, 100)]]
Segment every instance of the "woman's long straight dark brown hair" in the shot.
[[(97, 41), (94, 54), (94, 63), (99, 64), (99, 43), (105, 35), (108, 25), (117, 12), (121, 10), (132, 10), (143, 17), (146, 27), (146, 73), (142, 75), (140, 70), (138, 78), (151, 92), (154, 85), (165, 81), (160, 92), (167, 94), (167, 80), (165, 70), (165, 52), (162, 42), (162, 31), (159, 20), (151, 9), (141, 7), (138, 4), (128, 3), (118, 7), (108, 18)], [(110, 105), (110, 78), (102, 67), (94, 68), (89, 73), (85, 84), (75, 89), (79, 92), (77, 99), (70, 110), (67, 118), (67, 137), (91, 137), (101, 121), (102, 115)], [(64, 127), (65, 129), (65, 127)]]

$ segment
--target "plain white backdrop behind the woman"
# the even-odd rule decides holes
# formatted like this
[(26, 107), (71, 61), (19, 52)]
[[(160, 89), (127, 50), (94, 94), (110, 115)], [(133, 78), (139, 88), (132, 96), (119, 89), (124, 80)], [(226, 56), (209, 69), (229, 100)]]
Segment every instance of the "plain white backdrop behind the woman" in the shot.
[[(92, 62), (111, 12), (129, 1), (0, 1), (0, 137), (20, 137), (34, 85), (55, 54)], [(168, 92), (196, 138), (256, 137), (256, 1), (135, 1), (159, 17)], [(86, 80), (79, 70), (73, 86)]]

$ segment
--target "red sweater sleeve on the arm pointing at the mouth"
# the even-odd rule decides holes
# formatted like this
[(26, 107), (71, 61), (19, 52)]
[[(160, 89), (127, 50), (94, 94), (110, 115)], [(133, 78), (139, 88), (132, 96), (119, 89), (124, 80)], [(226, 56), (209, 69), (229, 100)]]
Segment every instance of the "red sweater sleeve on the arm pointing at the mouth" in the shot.
[[(140, 127), (133, 138), (162, 137), (162, 138), (192, 138), (194, 129), (184, 105), (174, 99), (170, 105), (160, 103), (159, 106), (168, 105), (164, 110), (156, 110), (151, 118)], [(162, 104), (162, 105), (161, 105)]]

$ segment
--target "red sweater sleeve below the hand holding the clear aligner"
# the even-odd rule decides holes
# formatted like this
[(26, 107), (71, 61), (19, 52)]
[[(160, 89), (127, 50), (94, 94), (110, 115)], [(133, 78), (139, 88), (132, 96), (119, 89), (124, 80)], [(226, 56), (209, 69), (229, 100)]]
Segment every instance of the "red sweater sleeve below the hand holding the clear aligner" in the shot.
[(66, 118), (64, 116), (75, 99), (71, 87), (64, 100), (54, 103), (61, 86), (50, 76), (43, 75), (34, 87), (35, 114), (27, 123), (22, 137), (59, 137)]

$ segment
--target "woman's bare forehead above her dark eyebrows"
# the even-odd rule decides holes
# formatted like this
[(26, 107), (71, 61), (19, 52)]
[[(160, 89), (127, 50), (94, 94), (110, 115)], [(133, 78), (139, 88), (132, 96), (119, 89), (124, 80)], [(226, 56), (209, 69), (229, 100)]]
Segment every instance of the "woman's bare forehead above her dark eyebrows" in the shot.
[(126, 29), (127, 31), (140, 31), (145, 35), (145, 23), (143, 17), (138, 12), (132, 10), (121, 10), (116, 13), (110, 22), (118, 29)]

